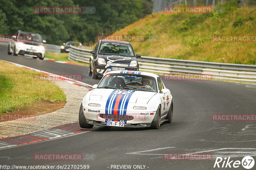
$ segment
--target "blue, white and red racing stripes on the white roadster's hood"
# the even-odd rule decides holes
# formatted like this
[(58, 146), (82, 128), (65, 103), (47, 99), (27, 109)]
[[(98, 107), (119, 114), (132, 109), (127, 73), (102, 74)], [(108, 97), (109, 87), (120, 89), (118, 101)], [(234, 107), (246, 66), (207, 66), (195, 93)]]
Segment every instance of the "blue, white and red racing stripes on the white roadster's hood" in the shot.
[(109, 95), (105, 114), (108, 115), (126, 115), (127, 105), (135, 90), (115, 89)]

